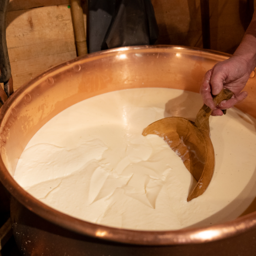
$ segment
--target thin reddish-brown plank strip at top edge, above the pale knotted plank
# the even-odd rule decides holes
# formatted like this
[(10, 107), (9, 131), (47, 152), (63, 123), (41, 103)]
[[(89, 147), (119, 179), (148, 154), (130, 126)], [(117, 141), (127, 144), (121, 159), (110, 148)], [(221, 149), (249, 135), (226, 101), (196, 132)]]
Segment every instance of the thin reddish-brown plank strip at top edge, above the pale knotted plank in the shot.
[(69, 4), (69, 0), (10, 0), (8, 11), (19, 11), (61, 4)]

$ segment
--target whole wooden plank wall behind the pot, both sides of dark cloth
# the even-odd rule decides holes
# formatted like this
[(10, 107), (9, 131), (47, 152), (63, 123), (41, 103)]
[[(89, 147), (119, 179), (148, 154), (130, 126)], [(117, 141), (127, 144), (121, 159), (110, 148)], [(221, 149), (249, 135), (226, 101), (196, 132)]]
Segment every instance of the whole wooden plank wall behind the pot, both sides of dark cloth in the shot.
[[(151, 0), (157, 44), (203, 47), (200, 0)], [(247, 0), (210, 0), (211, 49), (233, 53), (248, 25)], [(76, 57), (69, 0), (11, 0), (7, 45), (14, 89)], [(86, 13), (86, 0), (83, 0)], [(84, 14), (86, 21), (86, 14)], [(86, 22), (85, 22), (86, 26)]]

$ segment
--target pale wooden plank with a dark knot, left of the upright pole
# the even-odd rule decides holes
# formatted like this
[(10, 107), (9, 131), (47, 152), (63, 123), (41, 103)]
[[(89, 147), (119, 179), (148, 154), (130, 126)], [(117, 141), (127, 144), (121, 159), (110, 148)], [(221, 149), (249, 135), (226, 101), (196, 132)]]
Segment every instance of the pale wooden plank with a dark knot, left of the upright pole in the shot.
[(9, 12), (6, 38), (9, 48), (74, 38), (70, 9), (61, 5)]

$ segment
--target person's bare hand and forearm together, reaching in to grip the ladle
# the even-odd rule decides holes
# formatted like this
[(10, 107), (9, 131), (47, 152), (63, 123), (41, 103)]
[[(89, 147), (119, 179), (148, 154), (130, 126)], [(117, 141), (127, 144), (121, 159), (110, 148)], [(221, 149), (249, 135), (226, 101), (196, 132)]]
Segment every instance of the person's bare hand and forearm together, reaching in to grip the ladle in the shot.
[[(213, 109), (212, 115), (222, 115), (220, 109), (228, 109), (244, 100), (243, 91), (252, 70), (256, 67), (256, 11), (239, 47), (227, 60), (218, 62), (205, 74), (200, 93), (204, 103)], [(222, 88), (233, 92), (230, 100), (221, 102), (216, 108), (212, 94), (217, 95)]]

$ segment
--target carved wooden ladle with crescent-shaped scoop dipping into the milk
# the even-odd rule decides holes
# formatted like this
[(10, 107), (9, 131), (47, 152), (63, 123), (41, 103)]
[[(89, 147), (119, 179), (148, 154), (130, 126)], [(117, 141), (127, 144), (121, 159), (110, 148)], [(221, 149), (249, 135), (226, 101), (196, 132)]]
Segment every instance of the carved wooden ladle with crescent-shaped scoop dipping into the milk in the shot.
[[(217, 106), (222, 100), (229, 100), (233, 93), (224, 89), (213, 102)], [(156, 134), (183, 160), (186, 168), (197, 183), (188, 195), (187, 201), (203, 194), (207, 189), (214, 171), (215, 157), (210, 139), (209, 117), (212, 110), (203, 105), (196, 115), (195, 122), (183, 117), (166, 117), (143, 130), (143, 135)]]

